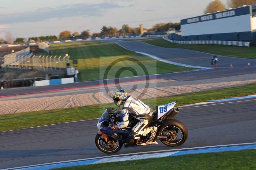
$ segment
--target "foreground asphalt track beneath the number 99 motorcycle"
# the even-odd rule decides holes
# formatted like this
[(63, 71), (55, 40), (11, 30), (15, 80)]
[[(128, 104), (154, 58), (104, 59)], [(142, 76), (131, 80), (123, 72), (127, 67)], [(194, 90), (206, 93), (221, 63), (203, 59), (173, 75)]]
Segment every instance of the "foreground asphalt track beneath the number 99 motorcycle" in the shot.
[[(162, 143), (122, 148), (116, 154), (255, 142), (255, 102), (256, 98), (250, 98), (181, 108), (175, 118), (188, 128), (189, 137), (186, 143), (172, 148)], [(0, 169), (108, 156), (100, 152), (94, 144), (98, 131), (97, 121), (2, 132)]]

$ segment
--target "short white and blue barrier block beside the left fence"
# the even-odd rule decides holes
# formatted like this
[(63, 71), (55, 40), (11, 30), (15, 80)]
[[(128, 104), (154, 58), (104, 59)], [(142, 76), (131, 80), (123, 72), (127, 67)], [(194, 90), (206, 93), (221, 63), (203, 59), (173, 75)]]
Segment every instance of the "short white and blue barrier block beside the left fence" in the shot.
[(59, 78), (59, 79), (52, 79), (52, 80), (35, 81), (33, 86), (60, 85), (60, 84), (67, 84), (67, 83), (74, 83), (74, 78)]

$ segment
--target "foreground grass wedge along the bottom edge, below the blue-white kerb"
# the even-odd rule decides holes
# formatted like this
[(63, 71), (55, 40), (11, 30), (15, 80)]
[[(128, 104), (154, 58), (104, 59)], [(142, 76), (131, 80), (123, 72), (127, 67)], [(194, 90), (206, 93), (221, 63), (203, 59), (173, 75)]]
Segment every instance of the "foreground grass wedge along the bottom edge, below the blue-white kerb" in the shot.
[(229, 151), (217, 153), (199, 153), (180, 156), (170, 156), (163, 158), (151, 158), (122, 162), (110, 162), (85, 166), (72, 166), (59, 168), (60, 170), (169, 170), (169, 169), (256, 169), (255, 161), (256, 150)]

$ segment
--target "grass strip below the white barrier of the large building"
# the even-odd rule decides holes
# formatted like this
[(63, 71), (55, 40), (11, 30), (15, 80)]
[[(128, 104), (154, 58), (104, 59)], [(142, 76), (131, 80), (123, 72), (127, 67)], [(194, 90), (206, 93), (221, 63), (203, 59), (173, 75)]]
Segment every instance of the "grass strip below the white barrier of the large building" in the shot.
[(184, 48), (216, 55), (256, 59), (256, 47), (205, 44), (176, 44), (165, 41), (162, 38), (146, 39), (140, 41), (165, 48)]

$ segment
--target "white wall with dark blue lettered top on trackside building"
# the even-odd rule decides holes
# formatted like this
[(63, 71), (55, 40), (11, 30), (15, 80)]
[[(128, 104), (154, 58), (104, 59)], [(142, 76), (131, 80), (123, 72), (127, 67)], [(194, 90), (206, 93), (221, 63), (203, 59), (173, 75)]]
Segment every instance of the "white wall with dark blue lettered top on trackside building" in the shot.
[(182, 36), (251, 32), (251, 6), (181, 20)]

